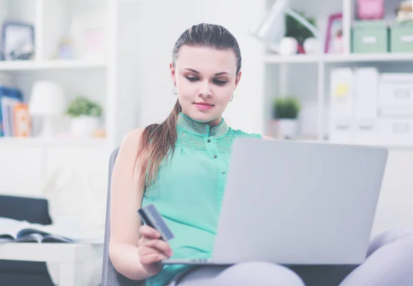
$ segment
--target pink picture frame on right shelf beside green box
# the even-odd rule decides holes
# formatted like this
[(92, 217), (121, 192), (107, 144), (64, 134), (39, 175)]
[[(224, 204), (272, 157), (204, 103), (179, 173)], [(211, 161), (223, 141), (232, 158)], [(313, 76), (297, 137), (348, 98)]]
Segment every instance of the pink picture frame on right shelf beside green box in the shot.
[(343, 52), (343, 13), (330, 14), (326, 31), (326, 43), (324, 52), (326, 54), (339, 54)]

